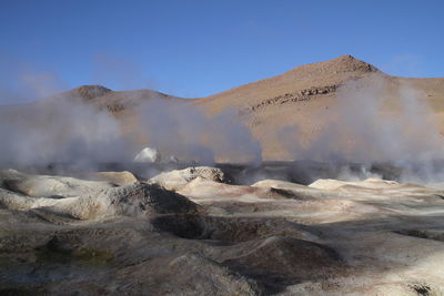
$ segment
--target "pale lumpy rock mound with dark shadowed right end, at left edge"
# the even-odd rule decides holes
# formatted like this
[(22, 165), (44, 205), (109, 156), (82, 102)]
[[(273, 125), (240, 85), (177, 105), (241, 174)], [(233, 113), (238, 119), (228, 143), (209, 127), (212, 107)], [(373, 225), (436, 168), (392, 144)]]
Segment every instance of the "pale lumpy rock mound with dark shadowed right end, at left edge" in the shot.
[[(103, 182), (69, 178), (70, 183), (63, 183), (64, 177), (13, 174), (18, 180), (2, 180), (7, 188), (4, 185), (0, 188), (0, 206), (9, 210), (42, 210), (77, 220), (194, 213), (198, 210), (186, 197), (157, 185), (135, 183), (114, 187)], [(10, 191), (11, 184), (14, 192)], [(85, 187), (77, 187), (82, 185)]]

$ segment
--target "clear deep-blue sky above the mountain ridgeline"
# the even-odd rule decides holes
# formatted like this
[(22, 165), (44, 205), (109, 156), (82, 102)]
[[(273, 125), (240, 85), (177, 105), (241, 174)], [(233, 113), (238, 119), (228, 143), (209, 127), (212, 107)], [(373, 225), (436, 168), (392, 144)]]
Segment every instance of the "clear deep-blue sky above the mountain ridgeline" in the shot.
[(444, 76), (443, 49), (442, 0), (0, 0), (2, 88), (37, 75), (204, 96), (342, 54)]

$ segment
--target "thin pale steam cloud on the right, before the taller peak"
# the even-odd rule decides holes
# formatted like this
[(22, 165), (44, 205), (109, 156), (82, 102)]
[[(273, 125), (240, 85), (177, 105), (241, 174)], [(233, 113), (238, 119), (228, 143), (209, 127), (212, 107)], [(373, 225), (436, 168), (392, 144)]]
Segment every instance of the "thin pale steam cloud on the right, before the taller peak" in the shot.
[(301, 127), (290, 126), (281, 131), (282, 142), (297, 160), (385, 163), (420, 177), (438, 176), (435, 162), (443, 160), (444, 139), (434, 113), (407, 84), (390, 94), (387, 83), (375, 74), (341, 86), (337, 105), (313, 114), (325, 122), (310, 141)]

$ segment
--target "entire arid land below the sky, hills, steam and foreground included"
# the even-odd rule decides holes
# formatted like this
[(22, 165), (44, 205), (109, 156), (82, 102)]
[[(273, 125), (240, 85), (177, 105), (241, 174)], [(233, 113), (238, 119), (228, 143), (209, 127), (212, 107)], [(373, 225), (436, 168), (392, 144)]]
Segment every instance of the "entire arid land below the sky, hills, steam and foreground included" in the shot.
[(444, 295), (443, 96), (343, 55), (2, 105), (0, 294)]

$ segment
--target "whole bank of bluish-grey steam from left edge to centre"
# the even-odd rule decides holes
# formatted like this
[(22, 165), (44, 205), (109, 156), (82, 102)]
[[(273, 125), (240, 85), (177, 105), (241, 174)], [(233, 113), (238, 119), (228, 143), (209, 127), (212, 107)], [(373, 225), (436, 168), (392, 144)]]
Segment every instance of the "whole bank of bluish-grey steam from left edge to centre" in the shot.
[[(261, 162), (260, 143), (235, 112), (208, 116), (191, 102), (155, 98), (154, 92), (149, 100), (137, 98), (147, 92), (122, 94), (134, 96), (130, 100), (130, 108), (135, 108), (130, 126), (107, 109), (85, 104), (72, 92), (27, 104), (10, 104), (17, 94), (22, 94), (22, 89), (32, 89), (32, 99), (47, 95), (48, 88), (58, 91), (58, 85), (52, 85), (57, 81), (53, 76), (26, 73), (16, 78), (14, 93), (10, 89), (0, 90), (3, 103), (0, 106), (0, 164), (3, 166), (75, 163), (93, 169), (99, 163), (131, 162), (145, 146), (184, 162)], [(134, 102), (140, 103), (134, 105)]]

